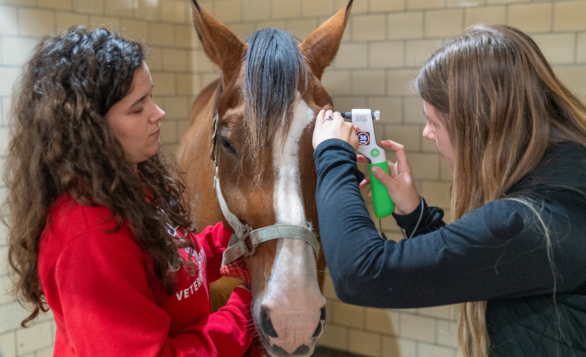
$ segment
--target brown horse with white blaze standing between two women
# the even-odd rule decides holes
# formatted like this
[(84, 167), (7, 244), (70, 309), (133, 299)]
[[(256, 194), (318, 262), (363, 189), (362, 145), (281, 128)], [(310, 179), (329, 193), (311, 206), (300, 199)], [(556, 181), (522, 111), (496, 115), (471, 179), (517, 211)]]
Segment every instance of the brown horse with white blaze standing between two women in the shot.
[[(177, 157), (198, 225), (222, 221), (244, 251), (255, 329), (273, 357), (310, 356), (326, 322), (311, 142), (316, 115), (333, 109), (320, 80), (352, 2), (297, 44), (272, 28), (241, 42), (192, 0), (197, 36), (222, 76), (193, 102)], [(280, 234), (253, 243), (254, 231), (275, 227)]]

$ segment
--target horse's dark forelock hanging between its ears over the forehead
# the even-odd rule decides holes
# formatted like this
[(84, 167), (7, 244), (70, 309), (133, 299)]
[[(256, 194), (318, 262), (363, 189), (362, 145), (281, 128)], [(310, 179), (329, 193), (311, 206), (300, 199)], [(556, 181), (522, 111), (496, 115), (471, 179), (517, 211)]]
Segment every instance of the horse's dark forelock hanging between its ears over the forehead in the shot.
[(265, 166), (271, 144), (288, 135), (291, 108), (300, 78), (306, 83), (305, 61), (293, 36), (275, 28), (248, 37), (244, 72), (244, 147), (242, 159), (254, 163), (255, 176)]

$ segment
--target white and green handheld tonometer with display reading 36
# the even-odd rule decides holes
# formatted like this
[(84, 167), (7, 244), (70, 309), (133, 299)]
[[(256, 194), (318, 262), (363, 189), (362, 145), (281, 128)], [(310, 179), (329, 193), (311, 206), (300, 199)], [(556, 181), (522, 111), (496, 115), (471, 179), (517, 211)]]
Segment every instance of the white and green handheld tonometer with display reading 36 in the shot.
[(380, 112), (370, 109), (352, 109), (352, 112), (342, 112), (343, 118), (351, 119), (354, 126), (360, 127), (358, 133), (358, 152), (368, 159), (370, 173), (370, 189), (372, 190), (372, 201), (374, 205), (374, 214), (377, 218), (389, 217), (395, 209), (395, 205), (389, 197), (387, 188), (374, 177), (372, 168), (378, 166), (389, 174), (389, 163), (384, 149), (379, 146), (376, 136), (374, 135), (373, 120), (379, 121)]

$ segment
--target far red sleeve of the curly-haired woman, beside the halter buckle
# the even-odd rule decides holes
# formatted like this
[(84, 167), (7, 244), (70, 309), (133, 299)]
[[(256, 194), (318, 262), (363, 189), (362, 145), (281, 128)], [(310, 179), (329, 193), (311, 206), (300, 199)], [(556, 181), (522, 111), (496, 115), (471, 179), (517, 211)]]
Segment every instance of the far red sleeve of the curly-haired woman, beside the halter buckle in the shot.
[(232, 234), (222, 222), (216, 225), (209, 225), (203, 231), (195, 235), (197, 243), (205, 250), (207, 258), (207, 280), (209, 283), (220, 279), (220, 266), (222, 266), (222, 255)]

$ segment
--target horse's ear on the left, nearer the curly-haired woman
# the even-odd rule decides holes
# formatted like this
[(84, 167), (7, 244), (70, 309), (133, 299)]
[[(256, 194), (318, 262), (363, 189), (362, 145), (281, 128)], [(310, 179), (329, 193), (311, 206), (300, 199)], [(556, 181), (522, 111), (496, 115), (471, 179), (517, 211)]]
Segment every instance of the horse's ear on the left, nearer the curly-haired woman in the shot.
[(239, 68), (246, 58), (246, 45), (226, 25), (202, 9), (196, 0), (192, 0), (191, 16), (203, 50), (220, 67), (224, 77)]

